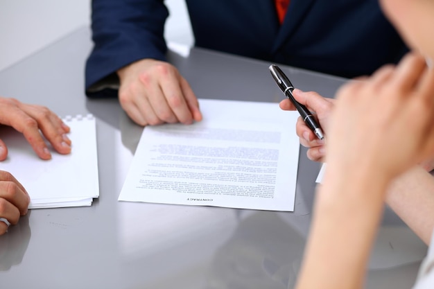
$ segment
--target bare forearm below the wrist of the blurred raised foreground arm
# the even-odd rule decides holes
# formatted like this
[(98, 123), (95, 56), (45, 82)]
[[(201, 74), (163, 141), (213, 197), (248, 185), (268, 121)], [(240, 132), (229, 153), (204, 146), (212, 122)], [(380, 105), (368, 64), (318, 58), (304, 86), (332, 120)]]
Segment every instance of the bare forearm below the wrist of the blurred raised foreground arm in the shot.
[(363, 287), (386, 186), (370, 177), (330, 179), (318, 189), (297, 289)]

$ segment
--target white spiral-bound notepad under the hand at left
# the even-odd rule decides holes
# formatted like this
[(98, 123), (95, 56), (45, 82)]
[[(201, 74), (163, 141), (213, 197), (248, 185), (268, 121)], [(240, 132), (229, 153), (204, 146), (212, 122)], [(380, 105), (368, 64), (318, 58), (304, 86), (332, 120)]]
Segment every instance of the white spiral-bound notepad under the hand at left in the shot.
[(10, 127), (0, 128), (8, 158), (0, 170), (12, 173), (31, 196), (29, 209), (90, 206), (99, 196), (96, 123), (94, 116), (66, 117), (71, 132), (71, 154), (60, 155), (51, 146), (52, 158), (37, 157), (24, 136)]

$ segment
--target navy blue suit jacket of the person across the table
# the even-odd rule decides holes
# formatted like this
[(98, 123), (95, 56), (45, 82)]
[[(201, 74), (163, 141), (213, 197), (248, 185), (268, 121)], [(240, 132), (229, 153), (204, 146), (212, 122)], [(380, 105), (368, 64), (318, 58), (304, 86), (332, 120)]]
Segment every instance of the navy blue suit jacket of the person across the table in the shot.
[[(378, 0), (292, 0), (281, 26), (273, 0), (185, 1), (195, 45), (207, 49), (347, 78), (408, 51)], [(166, 60), (166, 17), (162, 0), (93, 0), (87, 95), (101, 95), (89, 88), (116, 80), (116, 70), (131, 62)]]

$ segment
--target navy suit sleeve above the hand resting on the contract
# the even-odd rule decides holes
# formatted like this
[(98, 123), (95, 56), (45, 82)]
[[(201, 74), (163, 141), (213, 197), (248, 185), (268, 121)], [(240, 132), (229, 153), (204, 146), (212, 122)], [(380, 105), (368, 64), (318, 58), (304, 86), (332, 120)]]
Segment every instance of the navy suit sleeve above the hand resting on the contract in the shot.
[(116, 71), (144, 58), (166, 60), (163, 0), (92, 0), (94, 47), (85, 67), (87, 96), (116, 95)]

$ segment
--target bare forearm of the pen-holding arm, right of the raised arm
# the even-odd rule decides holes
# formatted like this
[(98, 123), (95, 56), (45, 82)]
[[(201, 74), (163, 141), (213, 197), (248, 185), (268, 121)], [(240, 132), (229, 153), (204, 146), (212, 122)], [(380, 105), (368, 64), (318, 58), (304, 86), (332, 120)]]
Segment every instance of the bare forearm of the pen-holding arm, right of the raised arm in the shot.
[(434, 228), (434, 177), (415, 167), (392, 182), (386, 203), (427, 245)]

